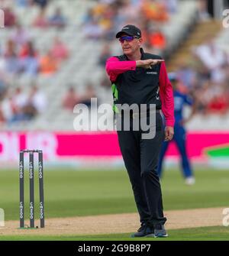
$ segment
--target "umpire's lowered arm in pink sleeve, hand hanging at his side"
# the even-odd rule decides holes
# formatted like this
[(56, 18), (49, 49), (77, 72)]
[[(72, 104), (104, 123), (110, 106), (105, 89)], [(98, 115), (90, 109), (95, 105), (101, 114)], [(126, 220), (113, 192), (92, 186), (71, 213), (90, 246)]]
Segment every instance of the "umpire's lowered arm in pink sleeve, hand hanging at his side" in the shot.
[(173, 86), (171, 85), (165, 63), (160, 65), (160, 100), (162, 102), (163, 115), (166, 118), (165, 141), (171, 141), (174, 134), (174, 99), (173, 99)]

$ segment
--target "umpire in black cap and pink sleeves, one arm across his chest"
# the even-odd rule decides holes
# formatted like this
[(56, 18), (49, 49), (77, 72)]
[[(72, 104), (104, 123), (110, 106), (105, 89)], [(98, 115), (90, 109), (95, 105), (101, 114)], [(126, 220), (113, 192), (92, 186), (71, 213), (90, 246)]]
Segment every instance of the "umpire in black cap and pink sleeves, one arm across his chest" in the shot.
[[(119, 38), (124, 54), (110, 57), (106, 62), (106, 71), (112, 83), (114, 112), (118, 112), (117, 104), (147, 104), (146, 115), (149, 118), (150, 105), (156, 105), (154, 138), (143, 139), (142, 134), (145, 131), (135, 131), (133, 124), (130, 124), (129, 131), (118, 131), (121, 154), (140, 215), (140, 228), (131, 236), (165, 237), (166, 218), (163, 215), (162, 193), (156, 167), (163, 140), (170, 141), (173, 138), (173, 88), (162, 58), (144, 53), (139, 28), (127, 24), (116, 34), (116, 38)], [(165, 130), (160, 109), (166, 119)], [(131, 118), (140, 118), (140, 115), (141, 113), (132, 113)]]

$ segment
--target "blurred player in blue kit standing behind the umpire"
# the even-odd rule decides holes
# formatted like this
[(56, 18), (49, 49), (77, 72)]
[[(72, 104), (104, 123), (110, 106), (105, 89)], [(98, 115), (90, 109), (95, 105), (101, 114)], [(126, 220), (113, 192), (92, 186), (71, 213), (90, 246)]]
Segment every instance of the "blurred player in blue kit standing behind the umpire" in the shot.
[[(173, 85), (173, 97), (174, 97), (174, 115), (175, 115), (175, 125), (174, 125), (174, 136), (173, 141), (175, 141), (176, 146), (179, 150), (182, 160), (182, 174), (185, 178), (185, 183), (187, 185), (192, 185), (195, 183), (195, 177), (193, 175), (192, 167), (189, 163), (189, 158), (186, 152), (186, 131), (184, 128), (185, 122), (188, 122), (192, 115), (195, 113), (195, 105), (193, 100), (188, 95), (185, 95), (178, 91), (177, 85), (179, 80), (176, 77), (176, 73), (169, 73), (169, 80)], [(182, 112), (185, 105), (192, 105), (192, 114), (187, 119), (183, 119)], [(159, 177), (162, 177), (163, 171), (163, 158), (166, 154), (167, 148), (170, 141), (164, 141), (163, 146), (160, 151), (160, 158), (158, 162), (157, 172)]]

